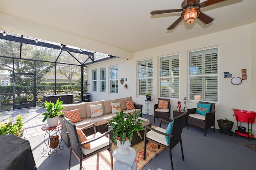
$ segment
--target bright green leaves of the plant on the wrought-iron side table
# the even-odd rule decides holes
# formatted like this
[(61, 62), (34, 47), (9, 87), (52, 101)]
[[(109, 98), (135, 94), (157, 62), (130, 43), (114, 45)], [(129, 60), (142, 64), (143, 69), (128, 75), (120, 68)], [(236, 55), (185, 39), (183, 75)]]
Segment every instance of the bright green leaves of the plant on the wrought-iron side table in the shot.
[(62, 107), (63, 101), (60, 101), (60, 99), (58, 99), (56, 101), (56, 103), (52, 103), (44, 101), (44, 106), (46, 108), (46, 112), (44, 112), (42, 115), (44, 116), (44, 119), (42, 120), (43, 122), (46, 121), (47, 117), (49, 118), (54, 118), (56, 116), (60, 116), (63, 112), (60, 111), (61, 109), (65, 109), (65, 107)]

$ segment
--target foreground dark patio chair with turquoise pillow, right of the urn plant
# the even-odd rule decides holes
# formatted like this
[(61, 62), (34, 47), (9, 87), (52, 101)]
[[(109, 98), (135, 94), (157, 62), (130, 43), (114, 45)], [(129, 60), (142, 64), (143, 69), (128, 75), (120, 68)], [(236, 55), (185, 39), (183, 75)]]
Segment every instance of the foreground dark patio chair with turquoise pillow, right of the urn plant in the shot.
[[(160, 119), (160, 125), (155, 129), (148, 125), (145, 127), (143, 160), (146, 159), (146, 144), (148, 143), (148, 141), (151, 141), (158, 145), (158, 149), (160, 148), (160, 146), (162, 146), (165, 149), (169, 150), (172, 170), (173, 170), (172, 148), (174, 148), (178, 143), (180, 143), (182, 160), (184, 161), (181, 135), (182, 135), (184, 121), (186, 120), (186, 116), (187, 116), (187, 112), (184, 112), (173, 119), (172, 130), (170, 134), (165, 133), (166, 129), (161, 128), (162, 121), (166, 123), (170, 123), (169, 121), (166, 121), (164, 119)], [(147, 132), (148, 129), (150, 129), (151, 131)], [(167, 144), (165, 136), (170, 137), (169, 144)]]

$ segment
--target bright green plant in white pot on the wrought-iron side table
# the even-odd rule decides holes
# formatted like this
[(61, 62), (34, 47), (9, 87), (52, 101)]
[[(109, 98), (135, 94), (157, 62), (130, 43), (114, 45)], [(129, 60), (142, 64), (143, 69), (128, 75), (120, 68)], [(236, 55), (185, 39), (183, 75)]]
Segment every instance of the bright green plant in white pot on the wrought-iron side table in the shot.
[(42, 115), (44, 116), (43, 122), (47, 120), (48, 127), (54, 127), (58, 125), (59, 116), (63, 113), (60, 111), (61, 109), (65, 109), (62, 107), (63, 101), (60, 101), (58, 99), (56, 103), (52, 103), (44, 101), (44, 106), (46, 108), (46, 112), (44, 112)]

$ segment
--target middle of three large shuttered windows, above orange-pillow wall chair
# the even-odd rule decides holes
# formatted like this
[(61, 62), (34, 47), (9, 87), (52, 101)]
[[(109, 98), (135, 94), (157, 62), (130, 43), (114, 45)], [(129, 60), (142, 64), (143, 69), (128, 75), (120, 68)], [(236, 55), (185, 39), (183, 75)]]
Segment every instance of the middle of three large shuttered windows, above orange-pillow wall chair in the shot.
[(160, 58), (160, 97), (179, 98), (180, 59), (179, 55)]

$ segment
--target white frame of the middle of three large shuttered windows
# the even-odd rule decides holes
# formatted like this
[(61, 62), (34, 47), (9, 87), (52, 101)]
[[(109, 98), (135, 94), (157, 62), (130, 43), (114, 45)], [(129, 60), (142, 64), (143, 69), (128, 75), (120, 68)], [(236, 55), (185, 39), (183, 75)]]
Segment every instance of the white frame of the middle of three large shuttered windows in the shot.
[[(174, 75), (169, 75), (169, 76), (162, 76), (161, 75), (161, 62), (160, 62), (160, 59), (161, 58), (164, 58), (164, 57), (170, 57), (170, 59), (169, 60), (172, 60), (172, 58), (176, 58), (176, 59), (178, 59), (178, 63), (179, 63), (179, 73), (178, 73), (178, 76), (174, 76)], [(159, 97), (160, 98), (170, 98), (170, 99), (173, 99), (173, 100), (179, 100), (180, 99), (180, 53), (175, 53), (175, 54), (169, 54), (169, 55), (163, 55), (163, 56), (160, 56), (159, 58), (158, 58), (158, 62), (159, 62), (159, 73), (158, 73), (158, 80), (159, 80)], [(169, 64), (169, 66), (171, 67), (172, 66), (172, 63), (170, 63)], [(170, 70), (170, 69), (169, 69)], [(171, 72), (170, 72), (171, 73)], [(167, 97), (167, 96), (161, 96), (161, 79), (162, 78), (169, 78), (171, 81), (174, 81), (174, 78), (178, 78), (178, 98), (173, 98), (172, 97), (172, 92), (170, 92), (170, 94), (169, 94), (169, 97)], [(170, 87), (170, 84), (169, 84), (169, 88), (171, 88)], [(171, 90), (170, 90), (171, 91)]]

